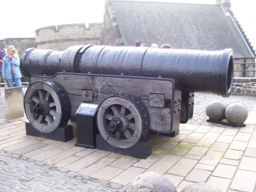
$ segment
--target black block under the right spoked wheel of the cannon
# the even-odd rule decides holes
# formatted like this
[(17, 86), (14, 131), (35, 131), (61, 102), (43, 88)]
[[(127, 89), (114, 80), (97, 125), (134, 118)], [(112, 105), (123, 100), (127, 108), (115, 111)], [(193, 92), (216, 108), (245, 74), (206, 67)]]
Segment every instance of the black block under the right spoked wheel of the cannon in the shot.
[(137, 142), (133, 147), (119, 149), (104, 140), (101, 135), (96, 135), (96, 146), (98, 150), (109, 151), (120, 155), (127, 155), (139, 159), (146, 159), (152, 154), (152, 140), (145, 139)]

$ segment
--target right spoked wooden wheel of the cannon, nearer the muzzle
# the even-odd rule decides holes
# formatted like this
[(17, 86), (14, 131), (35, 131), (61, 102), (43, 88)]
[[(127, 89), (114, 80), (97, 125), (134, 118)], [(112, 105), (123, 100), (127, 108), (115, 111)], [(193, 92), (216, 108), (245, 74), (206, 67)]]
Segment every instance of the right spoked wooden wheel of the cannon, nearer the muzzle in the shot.
[(150, 129), (145, 104), (129, 94), (118, 94), (104, 100), (97, 115), (101, 136), (116, 148), (130, 148)]

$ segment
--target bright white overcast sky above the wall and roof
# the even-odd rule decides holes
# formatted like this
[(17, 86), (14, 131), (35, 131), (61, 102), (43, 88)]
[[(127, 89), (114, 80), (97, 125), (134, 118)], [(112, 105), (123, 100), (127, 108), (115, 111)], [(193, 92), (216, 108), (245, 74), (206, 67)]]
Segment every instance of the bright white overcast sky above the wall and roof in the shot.
[[(144, 1), (144, 0), (141, 0)], [(158, 0), (145, 0), (155, 1)], [(241, 24), (254, 50), (256, 49), (256, 1), (230, 0), (231, 10)], [(215, 4), (215, 0), (160, 0), (159, 2), (185, 2)], [(105, 0), (12, 0), (1, 9), (0, 39), (35, 37), (35, 30), (63, 24), (102, 23)]]

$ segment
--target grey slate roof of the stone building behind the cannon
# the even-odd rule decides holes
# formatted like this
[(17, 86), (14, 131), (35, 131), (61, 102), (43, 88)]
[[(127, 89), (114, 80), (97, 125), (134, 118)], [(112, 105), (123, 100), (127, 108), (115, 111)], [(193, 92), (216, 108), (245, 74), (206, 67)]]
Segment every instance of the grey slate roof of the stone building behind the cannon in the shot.
[(235, 19), (221, 5), (109, 0), (124, 46), (136, 40), (175, 49), (233, 49), (234, 58), (254, 58)]

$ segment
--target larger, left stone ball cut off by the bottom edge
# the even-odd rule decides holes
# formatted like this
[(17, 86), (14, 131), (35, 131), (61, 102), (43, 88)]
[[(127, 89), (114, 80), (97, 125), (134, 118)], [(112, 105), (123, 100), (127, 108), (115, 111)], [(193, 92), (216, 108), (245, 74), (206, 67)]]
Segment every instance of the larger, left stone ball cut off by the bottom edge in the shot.
[(175, 185), (168, 178), (157, 172), (145, 172), (137, 176), (125, 192), (177, 192)]

